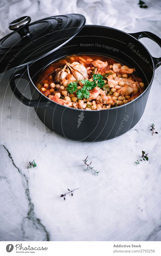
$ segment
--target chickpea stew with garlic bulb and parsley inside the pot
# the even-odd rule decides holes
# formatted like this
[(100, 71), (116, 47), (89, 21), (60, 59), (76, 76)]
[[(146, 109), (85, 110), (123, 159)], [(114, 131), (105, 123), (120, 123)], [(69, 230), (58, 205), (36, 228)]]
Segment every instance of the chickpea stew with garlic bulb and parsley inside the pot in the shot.
[(144, 91), (135, 68), (98, 55), (72, 55), (46, 67), (36, 87), (50, 100), (84, 110), (126, 104)]

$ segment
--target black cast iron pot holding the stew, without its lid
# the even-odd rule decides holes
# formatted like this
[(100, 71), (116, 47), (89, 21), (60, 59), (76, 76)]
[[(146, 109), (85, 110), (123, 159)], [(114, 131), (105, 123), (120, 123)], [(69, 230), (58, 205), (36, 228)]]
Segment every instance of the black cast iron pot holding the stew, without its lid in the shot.
[[(102, 26), (84, 26), (70, 42), (52, 54), (33, 62), (11, 76), (11, 89), (21, 99), (15, 79), (29, 80), (32, 99), (23, 103), (35, 108), (39, 119), (55, 133), (74, 141), (104, 141), (118, 137), (137, 124), (144, 113), (154, 71), (161, 58), (154, 58), (138, 39), (148, 37), (161, 47), (161, 39), (150, 32), (128, 34)], [(116, 61), (135, 67), (146, 84), (146, 90), (135, 100), (108, 110), (81, 110), (62, 106), (37, 90), (35, 82), (40, 72), (51, 62), (75, 53), (110, 56)]]

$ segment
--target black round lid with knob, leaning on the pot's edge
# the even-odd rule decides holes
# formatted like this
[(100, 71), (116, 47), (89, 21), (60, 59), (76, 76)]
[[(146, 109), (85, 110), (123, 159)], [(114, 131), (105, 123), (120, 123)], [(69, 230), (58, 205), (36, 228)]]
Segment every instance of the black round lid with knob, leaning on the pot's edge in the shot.
[(83, 28), (81, 14), (52, 16), (30, 23), (24, 16), (10, 23), (8, 34), (0, 40), (0, 72), (30, 64), (70, 41)]

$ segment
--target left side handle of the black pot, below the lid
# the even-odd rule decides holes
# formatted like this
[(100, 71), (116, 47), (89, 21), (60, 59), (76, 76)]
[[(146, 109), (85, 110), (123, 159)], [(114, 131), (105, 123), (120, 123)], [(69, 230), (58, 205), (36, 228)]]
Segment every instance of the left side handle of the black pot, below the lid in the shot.
[(23, 68), (20, 71), (15, 72), (10, 77), (10, 86), (11, 86), (12, 92), (14, 93), (14, 96), (16, 96), (16, 98), (18, 100), (23, 99), (22, 103), (24, 103), (26, 106), (29, 106), (29, 107), (44, 107), (47, 102), (43, 102), (41, 100), (41, 98), (42, 98), (41, 95), (39, 96), (39, 98), (37, 100), (30, 100), (30, 99), (27, 99), (22, 93), (20, 93), (20, 91), (17, 89), (17, 86), (15, 84), (15, 80), (17, 78), (23, 78), (23, 79), (26, 79), (27, 81), (30, 81), (28, 75), (26, 74), (26, 68), (25, 69)]

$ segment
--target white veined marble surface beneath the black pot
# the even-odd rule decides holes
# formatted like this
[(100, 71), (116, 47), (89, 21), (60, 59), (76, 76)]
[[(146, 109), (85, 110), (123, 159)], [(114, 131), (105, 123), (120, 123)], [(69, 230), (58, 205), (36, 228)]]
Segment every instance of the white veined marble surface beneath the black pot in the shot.
[[(140, 30), (161, 37), (159, 16), (158, 21), (138, 20), (130, 31)], [(155, 43), (141, 41), (153, 56), (161, 56)], [(53, 136), (35, 110), (24, 105), (18, 131), (20, 102), (9, 86), (12, 71), (1, 77), (1, 240), (160, 241), (160, 71), (140, 122), (115, 140), (91, 144)], [(19, 86), (23, 92), (23, 80)], [(153, 137), (152, 122), (159, 132)], [(136, 166), (141, 150), (149, 153), (149, 161)], [(99, 176), (84, 172), (87, 155)], [(27, 169), (33, 159), (37, 167)], [(67, 188), (79, 190), (64, 201), (60, 194)]]

